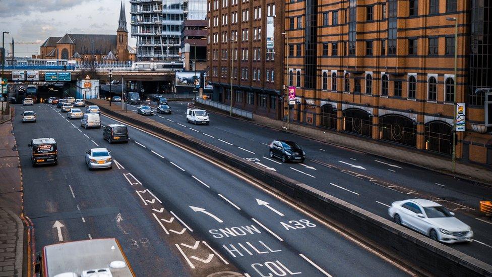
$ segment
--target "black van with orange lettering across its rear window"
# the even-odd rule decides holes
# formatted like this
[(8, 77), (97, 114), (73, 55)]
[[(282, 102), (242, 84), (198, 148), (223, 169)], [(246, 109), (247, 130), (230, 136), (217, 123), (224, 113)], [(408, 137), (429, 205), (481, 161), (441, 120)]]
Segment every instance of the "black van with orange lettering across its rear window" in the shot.
[(58, 164), (58, 149), (53, 138), (33, 139), (29, 147), (33, 167), (38, 164)]

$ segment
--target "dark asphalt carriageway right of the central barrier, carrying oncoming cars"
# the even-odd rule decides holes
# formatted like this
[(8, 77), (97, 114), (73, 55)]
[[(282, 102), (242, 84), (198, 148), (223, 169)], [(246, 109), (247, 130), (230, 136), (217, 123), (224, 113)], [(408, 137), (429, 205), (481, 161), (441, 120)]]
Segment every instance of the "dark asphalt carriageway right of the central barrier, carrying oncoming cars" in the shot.
[[(474, 231), (473, 242), (450, 246), (492, 264), (492, 221), (478, 210), (480, 200), (492, 199), (490, 187), (219, 114), (210, 114), (210, 125), (195, 126), (184, 116), (187, 102), (169, 105), (171, 115), (151, 118), (385, 218), (391, 219), (388, 207), (394, 201), (436, 201)], [(128, 105), (132, 112), (137, 107)], [(275, 139), (301, 145), (305, 162), (283, 164), (270, 158), (268, 145)]]

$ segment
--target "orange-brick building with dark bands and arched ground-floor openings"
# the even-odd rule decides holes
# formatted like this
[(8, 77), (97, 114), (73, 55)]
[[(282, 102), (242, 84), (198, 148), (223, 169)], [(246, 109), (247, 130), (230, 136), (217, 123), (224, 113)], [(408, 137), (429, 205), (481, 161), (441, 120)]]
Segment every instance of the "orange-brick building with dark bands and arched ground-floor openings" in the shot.
[[(285, 6), (285, 82), (297, 87), (295, 121), (450, 155), (457, 82), (456, 101), (466, 103), (457, 157), (492, 164), (484, 96), (475, 94), (492, 87), (492, 4), (289, 0)], [(455, 22), (447, 18), (458, 21), (457, 76)]]

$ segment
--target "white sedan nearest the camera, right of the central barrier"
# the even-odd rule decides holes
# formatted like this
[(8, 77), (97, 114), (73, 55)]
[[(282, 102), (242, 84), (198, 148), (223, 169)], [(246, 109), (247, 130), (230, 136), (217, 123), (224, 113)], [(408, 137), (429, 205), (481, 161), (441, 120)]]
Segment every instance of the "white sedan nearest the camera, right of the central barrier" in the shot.
[(455, 243), (473, 238), (473, 231), (454, 213), (440, 204), (424, 199), (408, 199), (391, 204), (388, 213), (396, 224), (406, 226), (429, 238)]

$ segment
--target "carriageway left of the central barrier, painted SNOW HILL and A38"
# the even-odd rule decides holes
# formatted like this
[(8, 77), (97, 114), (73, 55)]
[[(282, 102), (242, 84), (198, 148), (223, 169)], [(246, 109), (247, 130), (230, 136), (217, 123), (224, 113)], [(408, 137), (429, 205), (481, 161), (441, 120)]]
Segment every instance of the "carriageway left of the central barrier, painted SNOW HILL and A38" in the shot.
[[(178, 106), (173, 105), (176, 111)], [(37, 122), (22, 124), (20, 115), (29, 109), (37, 114)], [(115, 237), (138, 276), (411, 273), (336, 226), (163, 138), (129, 128), (128, 144), (110, 145), (101, 129), (84, 130), (79, 120), (67, 119), (52, 105), (16, 105), (15, 110), (25, 213), (35, 226), (37, 252), (60, 241)], [(265, 160), (265, 145), (242, 144), (252, 140), (247, 129), (235, 135), (220, 131), (219, 116), (213, 116), (212, 125), (203, 129), (184, 124), (179, 113), (155, 118), (213, 144), (223, 143), (231, 152), (239, 149), (244, 152), (241, 156), (253, 162), (271, 162), (279, 172), (295, 173), (294, 178), (306, 173), (310, 174), (306, 177), (322, 179), (320, 173), (325, 171), (320, 164), (315, 170)], [(104, 126), (116, 123), (105, 116), (101, 121)], [(221, 132), (221, 136), (215, 134)], [(31, 166), (28, 144), (39, 137), (57, 141), (58, 165)], [(111, 151), (111, 170), (87, 170), (84, 152), (97, 147)], [(347, 185), (343, 183), (347, 178), (351, 177), (329, 175), (324, 180), (341, 187)]]

